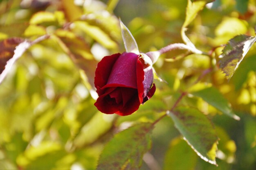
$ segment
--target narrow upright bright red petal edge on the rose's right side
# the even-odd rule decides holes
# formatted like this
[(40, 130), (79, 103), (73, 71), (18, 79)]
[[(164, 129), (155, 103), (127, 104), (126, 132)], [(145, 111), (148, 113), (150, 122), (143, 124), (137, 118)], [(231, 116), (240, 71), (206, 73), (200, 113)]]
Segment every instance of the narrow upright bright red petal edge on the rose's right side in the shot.
[(137, 89), (138, 89), (138, 96), (139, 96), (139, 102), (143, 102), (143, 93), (144, 93), (144, 70), (143, 65), (139, 60), (137, 60), (136, 65), (136, 74), (137, 74)]

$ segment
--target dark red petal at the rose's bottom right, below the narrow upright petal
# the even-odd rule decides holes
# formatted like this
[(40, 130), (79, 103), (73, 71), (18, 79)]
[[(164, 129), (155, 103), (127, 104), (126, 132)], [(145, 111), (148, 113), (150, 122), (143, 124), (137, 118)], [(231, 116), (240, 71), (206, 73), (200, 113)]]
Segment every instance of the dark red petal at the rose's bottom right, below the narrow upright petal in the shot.
[(116, 114), (119, 114), (120, 116), (127, 116), (135, 112), (136, 110), (139, 109), (140, 101), (138, 98), (138, 94), (135, 93), (130, 100), (126, 103), (126, 105), (116, 112)]

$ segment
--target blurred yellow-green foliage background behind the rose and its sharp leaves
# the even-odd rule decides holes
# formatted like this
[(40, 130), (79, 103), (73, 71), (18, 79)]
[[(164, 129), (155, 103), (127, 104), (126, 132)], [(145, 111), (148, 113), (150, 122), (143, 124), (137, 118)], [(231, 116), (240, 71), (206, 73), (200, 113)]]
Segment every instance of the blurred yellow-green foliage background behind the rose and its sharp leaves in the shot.
[[(201, 98), (197, 107), (214, 123), (220, 138), (218, 167), (204, 162), (182, 140), (170, 117), (156, 124), (152, 149), (141, 170), (256, 169), (256, 49), (245, 56), (231, 81), (216, 62), (223, 45), (239, 34), (255, 35), (255, 0), (215, 0), (189, 25), (187, 36), (209, 56), (184, 50), (163, 54), (154, 67), (157, 91), (130, 116), (105, 115), (94, 107), (94, 70), (103, 56), (124, 51), (118, 17), (139, 50), (182, 42), (187, 0), (0, 0), (0, 40), (47, 40), (32, 45), (0, 84), (0, 169), (94, 170), (109, 139), (136, 122), (153, 122), (170, 109), (205, 69), (201, 81), (216, 87), (241, 120)], [(96, 96), (97, 97), (97, 96)]]

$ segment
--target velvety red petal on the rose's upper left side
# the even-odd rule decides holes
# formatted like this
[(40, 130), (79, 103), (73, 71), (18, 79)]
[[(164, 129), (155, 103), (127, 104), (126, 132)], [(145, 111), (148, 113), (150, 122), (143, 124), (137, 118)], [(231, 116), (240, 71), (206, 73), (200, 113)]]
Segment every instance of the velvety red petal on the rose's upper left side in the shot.
[[(117, 54), (113, 54), (111, 56), (105, 56), (98, 63), (96, 71), (95, 71), (95, 77), (94, 77), (94, 86), (97, 89), (99, 87), (101, 88), (107, 84), (112, 67), (120, 55), (121, 55), (120, 53), (117, 53)], [(99, 94), (99, 95), (101, 95), (101, 94)]]

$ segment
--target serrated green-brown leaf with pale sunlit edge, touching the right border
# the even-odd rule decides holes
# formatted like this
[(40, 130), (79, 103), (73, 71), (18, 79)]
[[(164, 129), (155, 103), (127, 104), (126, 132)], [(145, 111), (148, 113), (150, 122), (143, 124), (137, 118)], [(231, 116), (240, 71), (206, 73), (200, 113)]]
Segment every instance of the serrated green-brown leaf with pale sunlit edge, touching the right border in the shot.
[(228, 80), (233, 76), (238, 65), (249, 49), (256, 42), (256, 36), (239, 35), (227, 43), (220, 55), (220, 69), (226, 74)]

